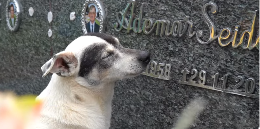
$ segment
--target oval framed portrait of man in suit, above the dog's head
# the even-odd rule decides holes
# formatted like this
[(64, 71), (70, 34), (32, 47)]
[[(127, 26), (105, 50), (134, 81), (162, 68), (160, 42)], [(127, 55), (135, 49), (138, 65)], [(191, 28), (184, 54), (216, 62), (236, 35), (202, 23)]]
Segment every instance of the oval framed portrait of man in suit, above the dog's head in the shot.
[(86, 0), (81, 11), (81, 25), (84, 34), (103, 32), (106, 13), (99, 0)]

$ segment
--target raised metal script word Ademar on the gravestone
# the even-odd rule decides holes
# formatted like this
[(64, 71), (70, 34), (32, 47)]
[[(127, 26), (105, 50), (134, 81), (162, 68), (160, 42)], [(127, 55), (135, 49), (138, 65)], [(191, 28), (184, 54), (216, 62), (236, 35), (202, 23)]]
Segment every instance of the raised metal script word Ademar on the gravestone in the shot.
[[(194, 25), (190, 21), (190, 17), (186, 16), (183, 20), (180, 21), (174, 21), (172, 24), (169, 20), (156, 20), (153, 23), (153, 20), (146, 19), (142, 23), (143, 19), (143, 6), (144, 3), (142, 3), (142, 6), (140, 7), (139, 11), (139, 17), (134, 18), (134, 10), (135, 10), (136, 1), (131, 1), (126, 8), (124, 9), (124, 12), (117, 12), (117, 22), (114, 23), (114, 29), (117, 32), (120, 32), (123, 28), (127, 30), (127, 32), (130, 32), (130, 30), (133, 30), (135, 33), (141, 33), (144, 34), (150, 34), (155, 31), (156, 35), (160, 36), (170, 36), (173, 37), (182, 37), (187, 32), (187, 35), (189, 38), (195, 36), (196, 32), (193, 32)], [(131, 8), (130, 8), (131, 7)], [(128, 16), (128, 11), (130, 9), (130, 16)], [(120, 19), (120, 17), (122, 17)], [(129, 21), (127, 19), (129, 17)], [(137, 24), (137, 26), (136, 26)], [(172, 27), (170, 28), (170, 25)], [(131, 27), (132, 26), (132, 27)], [(184, 28), (182, 28), (184, 26)], [(188, 29), (188, 31), (187, 31)]]

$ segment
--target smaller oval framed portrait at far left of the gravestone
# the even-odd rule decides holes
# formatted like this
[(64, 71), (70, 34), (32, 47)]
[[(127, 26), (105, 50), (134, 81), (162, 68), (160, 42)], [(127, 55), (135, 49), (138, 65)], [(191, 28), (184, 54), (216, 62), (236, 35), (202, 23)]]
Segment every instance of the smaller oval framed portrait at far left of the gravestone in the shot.
[(18, 0), (8, 0), (6, 3), (6, 22), (11, 32), (17, 31), (20, 26), (21, 5)]

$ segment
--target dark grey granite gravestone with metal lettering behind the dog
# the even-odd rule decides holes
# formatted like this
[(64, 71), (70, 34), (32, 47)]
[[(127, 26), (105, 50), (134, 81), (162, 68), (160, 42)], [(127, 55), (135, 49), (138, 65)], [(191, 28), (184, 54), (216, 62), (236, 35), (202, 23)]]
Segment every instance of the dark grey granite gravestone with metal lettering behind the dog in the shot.
[(112, 129), (174, 127), (194, 98), (207, 104), (192, 128), (259, 127), (257, 0), (0, 0), (0, 91), (41, 93), (51, 75), (40, 67), (92, 31), (91, 2), (98, 32), (152, 53), (142, 75), (116, 83)]

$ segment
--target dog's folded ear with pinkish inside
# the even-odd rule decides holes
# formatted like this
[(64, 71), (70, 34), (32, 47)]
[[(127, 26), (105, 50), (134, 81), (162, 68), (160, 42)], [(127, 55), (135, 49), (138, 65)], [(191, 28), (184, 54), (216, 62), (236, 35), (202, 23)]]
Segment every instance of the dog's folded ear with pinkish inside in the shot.
[(76, 73), (77, 65), (78, 60), (72, 52), (62, 51), (54, 55), (54, 57), (47, 61), (41, 69), (43, 71), (43, 77), (45, 77), (49, 72), (61, 77), (68, 77)]

